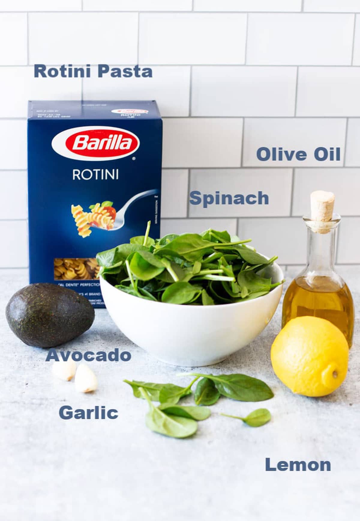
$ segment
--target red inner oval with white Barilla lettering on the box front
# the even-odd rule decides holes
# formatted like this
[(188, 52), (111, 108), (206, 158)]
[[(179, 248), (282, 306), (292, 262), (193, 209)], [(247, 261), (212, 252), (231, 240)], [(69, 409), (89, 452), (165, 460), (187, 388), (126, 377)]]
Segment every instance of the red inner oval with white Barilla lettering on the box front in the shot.
[(65, 146), (71, 153), (80, 156), (110, 158), (132, 154), (139, 146), (139, 139), (124, 129), (100, 128), (71, 134)]

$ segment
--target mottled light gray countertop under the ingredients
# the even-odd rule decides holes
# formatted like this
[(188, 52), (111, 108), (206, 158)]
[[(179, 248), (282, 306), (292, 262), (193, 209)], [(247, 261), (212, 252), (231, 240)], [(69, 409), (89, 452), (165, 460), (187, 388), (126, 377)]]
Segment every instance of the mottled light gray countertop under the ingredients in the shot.
[[(287, 283), (297, 273), (287, 272)], [(358, 311), (360, 267), (341, 266)], [(358, 519), (360, 471), (359, 315), (349, 373), (333, 394), (292, 394), (274, 375), (271, 344), (281, 305), (262, 334), (204, 373), (245, 373), (265, 380), (275, 398), (262, 403), (221, 399), (188, 439), (166, 438), (145, 426), (147, 404), (123, 378), (176, 382), (182, 369), (157, 361), (127, 340), (99, 309), (91, 330), (61, 350), (130, 351), (129, 362), (90, 362), (95, 393), (53, 378), (47, 350), (18, 340), (5, 320), (10, 296), (28, 283), (27, 270), (1, 270), (2, 506), (6, 521), (224, 521), (225, 519)], [(191, 403), (191, 398), (184, 403)], [(61, 405), (119, 411), (115, 420), (63, 420)], [(259, 429), (224, 418), (268, 407), (272, 421)], [(265, 458), (331, 462), (331, 472), (265, 472)]]

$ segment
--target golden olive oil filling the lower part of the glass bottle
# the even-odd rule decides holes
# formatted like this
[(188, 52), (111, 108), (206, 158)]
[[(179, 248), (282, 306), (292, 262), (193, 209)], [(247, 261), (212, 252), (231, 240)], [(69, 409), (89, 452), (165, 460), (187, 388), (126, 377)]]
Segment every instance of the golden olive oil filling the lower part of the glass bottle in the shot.
[(282, 327), (301, 316), (325, 318), (337, 326), (351, 347), (354, 305), (348, 286), (324, 276), (299, 276), (294, 279), (282, 304)]

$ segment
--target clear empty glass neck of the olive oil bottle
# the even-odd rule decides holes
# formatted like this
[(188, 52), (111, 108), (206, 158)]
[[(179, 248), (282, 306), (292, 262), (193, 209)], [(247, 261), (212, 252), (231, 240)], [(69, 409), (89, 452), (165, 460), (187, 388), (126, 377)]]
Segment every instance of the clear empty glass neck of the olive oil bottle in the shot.
[(327, 276), (334, 271), (335, 228), (318, 233), (307, 228), (307, 271)]

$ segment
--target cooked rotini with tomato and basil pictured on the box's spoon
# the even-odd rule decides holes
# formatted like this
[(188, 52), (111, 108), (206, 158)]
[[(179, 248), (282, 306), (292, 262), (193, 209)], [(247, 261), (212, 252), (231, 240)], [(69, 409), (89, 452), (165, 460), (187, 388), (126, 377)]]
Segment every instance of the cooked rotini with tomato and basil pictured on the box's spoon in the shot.
[(114, 226), (116, 210), (111, 201), (104, 201), (89, 206), (91, 212), (84, 212), (82, 206), (71, 205), (71, 213), (78, 227), (80, 237), (88, 237), (91, 234), (91, 227), (110, 230)]

